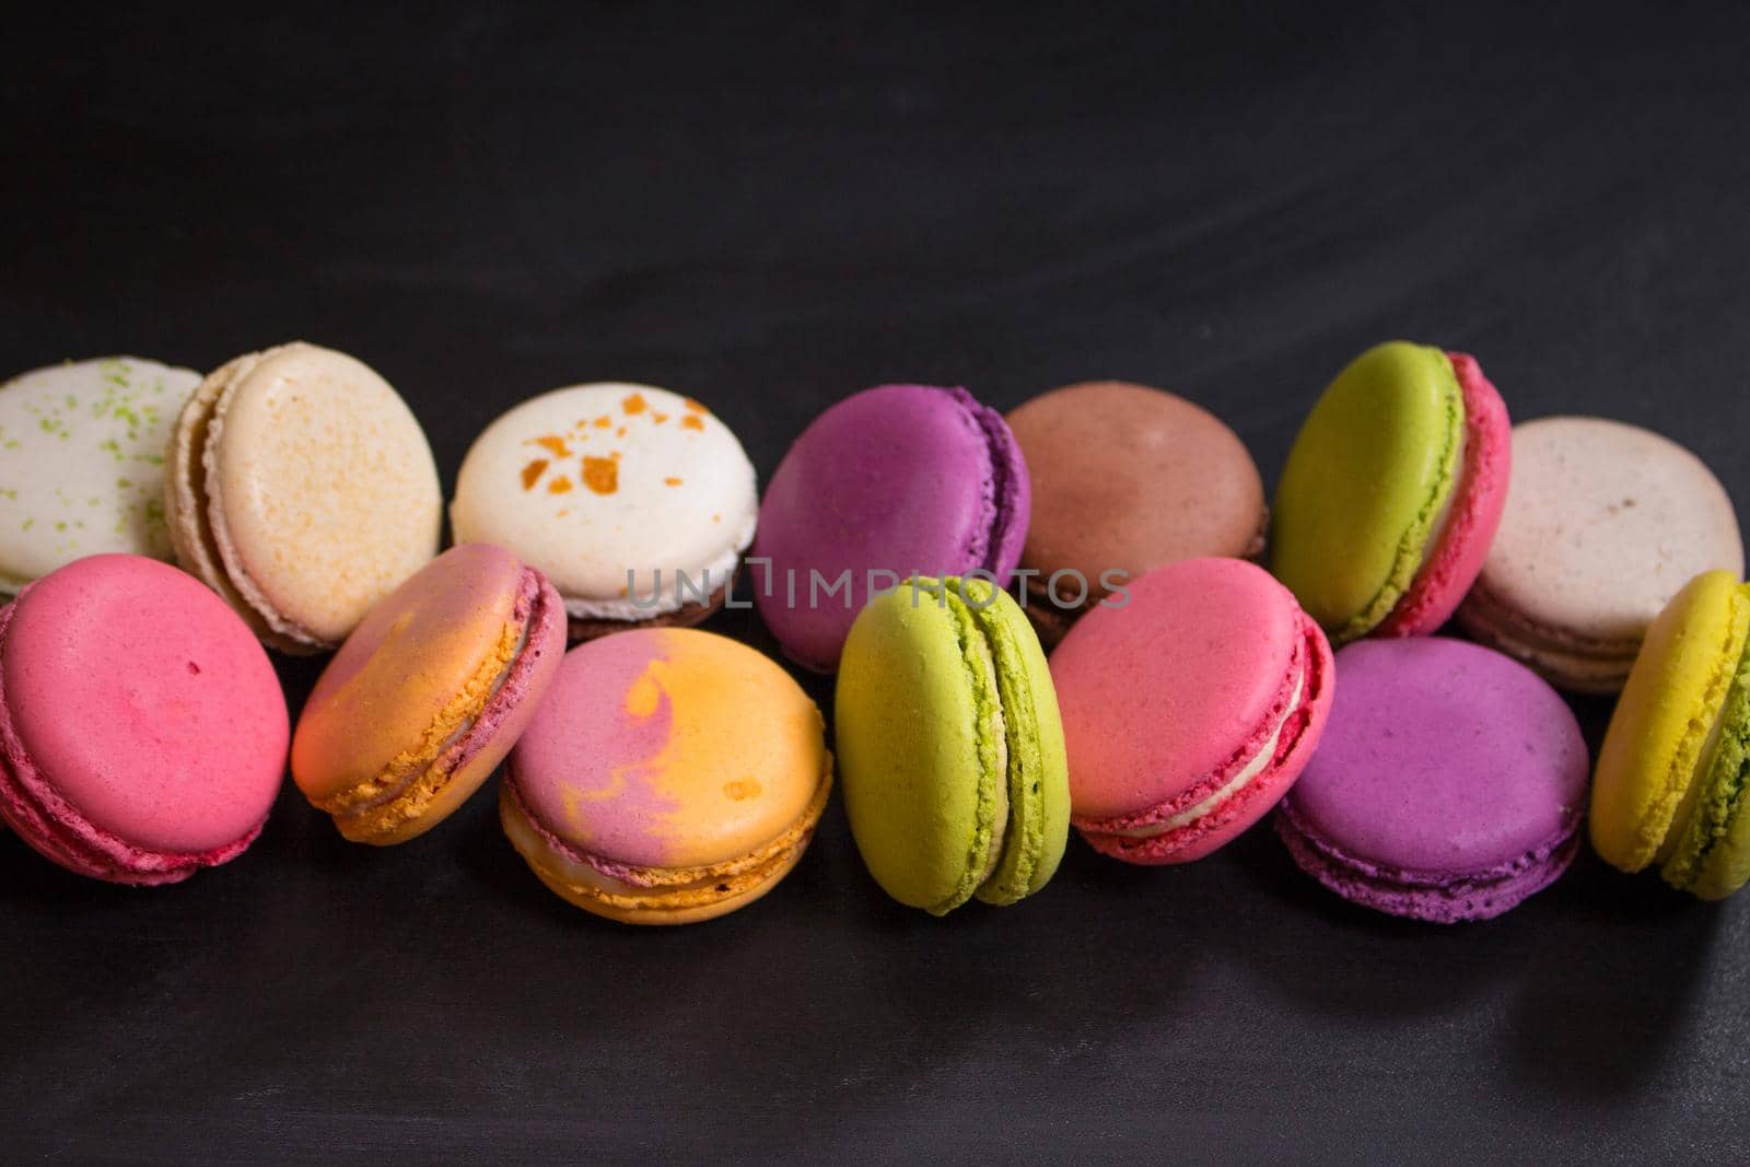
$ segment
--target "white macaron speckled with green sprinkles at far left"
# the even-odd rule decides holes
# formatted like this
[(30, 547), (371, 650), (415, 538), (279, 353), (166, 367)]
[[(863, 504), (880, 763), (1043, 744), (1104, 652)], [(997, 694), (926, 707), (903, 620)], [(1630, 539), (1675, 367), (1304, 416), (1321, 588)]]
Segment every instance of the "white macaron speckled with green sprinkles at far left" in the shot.
[(0, 593), (88, 555), (172, 558), (164, 446), (200, 380), (103, 357), (0, 385)]

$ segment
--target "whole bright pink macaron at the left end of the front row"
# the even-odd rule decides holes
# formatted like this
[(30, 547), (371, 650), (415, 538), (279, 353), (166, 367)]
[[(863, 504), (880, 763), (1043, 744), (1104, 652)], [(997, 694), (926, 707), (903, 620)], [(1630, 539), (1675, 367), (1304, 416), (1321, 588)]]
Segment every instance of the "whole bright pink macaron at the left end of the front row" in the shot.
[(173, 567), (94, 555), (0, 607), (0, 819), (68, 871), (175, 884), (234, 859), (289, 731), (261, 644)]

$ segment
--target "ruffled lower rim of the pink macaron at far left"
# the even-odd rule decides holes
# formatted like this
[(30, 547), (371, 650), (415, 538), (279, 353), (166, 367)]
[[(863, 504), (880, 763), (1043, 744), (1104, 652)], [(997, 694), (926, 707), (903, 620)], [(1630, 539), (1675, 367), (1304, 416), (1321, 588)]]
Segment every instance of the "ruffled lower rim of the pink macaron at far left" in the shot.
[[(28, 588), (26, 588), (28, 590)], [(0, 646), (14, 605), (0, 607)], [(117, 884), (175, 884), (200, 868), (234, 859), (261, 835), (266, 817), (240, 840), (203, 852), (147, 850), (91, 822), (32, 765), (12, 724), (0, 672), (0, 817), (23, 838), (70, 871)]]

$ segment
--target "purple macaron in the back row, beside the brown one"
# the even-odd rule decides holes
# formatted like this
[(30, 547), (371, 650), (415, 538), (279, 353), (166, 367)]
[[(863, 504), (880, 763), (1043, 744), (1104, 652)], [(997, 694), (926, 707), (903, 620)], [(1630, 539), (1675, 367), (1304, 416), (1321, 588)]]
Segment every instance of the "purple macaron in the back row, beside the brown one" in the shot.
[(964, 388), (864, 390), (817, 416), (766, 486), (749, 558), (760, 614), (786, 656), (831, 672), (872, 590), (971, 572), (1006, 586), (1031, 506), (996, 409)]

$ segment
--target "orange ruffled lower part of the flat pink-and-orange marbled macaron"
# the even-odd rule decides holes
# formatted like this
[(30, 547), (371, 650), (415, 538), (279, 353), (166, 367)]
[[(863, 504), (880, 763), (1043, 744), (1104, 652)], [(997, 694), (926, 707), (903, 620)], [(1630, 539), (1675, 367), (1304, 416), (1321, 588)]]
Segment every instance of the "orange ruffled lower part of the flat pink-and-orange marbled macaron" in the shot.
[(623, 912), (686, 912), (752, 898), (789, 873), (814, 838), (831, 786), (828, 766), (807, 808), (784, 833), (746, 856), (705, 866), (637, 866), (574, 847), (536, 817), (514, 770), (499, 789), (499, 819), (523, 861), (565, 899)]

